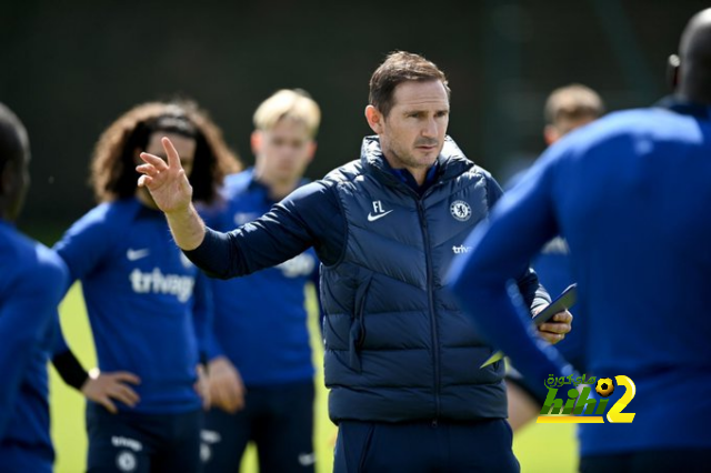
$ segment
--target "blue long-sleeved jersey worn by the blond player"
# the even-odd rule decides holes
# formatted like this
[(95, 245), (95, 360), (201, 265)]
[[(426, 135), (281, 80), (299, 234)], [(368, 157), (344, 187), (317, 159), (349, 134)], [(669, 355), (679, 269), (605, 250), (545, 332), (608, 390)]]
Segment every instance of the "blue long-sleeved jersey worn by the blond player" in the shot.
[[(254, 180), (253, 169), (226, 179), (227, 203), (207, 217), (211, 228), (230, 231), (267, 213), (276, 203)], [(312, 249), (247, 278), (211, 280), (213, 338), (209, 356), (227, 356), (244, 384), (273, 385), (313, 378), (304, 288), (318, 281)]]

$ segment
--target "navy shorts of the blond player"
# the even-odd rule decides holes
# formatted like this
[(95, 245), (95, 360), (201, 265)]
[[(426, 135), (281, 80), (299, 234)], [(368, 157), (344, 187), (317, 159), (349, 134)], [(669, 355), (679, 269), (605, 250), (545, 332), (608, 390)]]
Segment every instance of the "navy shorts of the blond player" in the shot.
[(247, 386), (244, 409), (206, 415), (202, 453), (207, 473), (237, 473), (250, 441), (260, 473), (313, 472), (313, 381)]

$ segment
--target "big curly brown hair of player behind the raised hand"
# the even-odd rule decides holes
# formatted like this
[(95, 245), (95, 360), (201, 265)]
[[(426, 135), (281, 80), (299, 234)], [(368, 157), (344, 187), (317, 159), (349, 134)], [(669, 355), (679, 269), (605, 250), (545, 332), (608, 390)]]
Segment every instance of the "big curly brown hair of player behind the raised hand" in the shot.
[(119, 117), (99, 138), (90, 177), (97, 201), (124, 199), (136, 193), (140, 174), (136, 171), (133, 153), (137, 149), (144, 150), (150, 135), (157, 131), (196, 140), (196, 164), (189, 180), (197, 201), (212, 202), (224, 175), (241, 169), (220, 129), (194, 102), (143, 103)]

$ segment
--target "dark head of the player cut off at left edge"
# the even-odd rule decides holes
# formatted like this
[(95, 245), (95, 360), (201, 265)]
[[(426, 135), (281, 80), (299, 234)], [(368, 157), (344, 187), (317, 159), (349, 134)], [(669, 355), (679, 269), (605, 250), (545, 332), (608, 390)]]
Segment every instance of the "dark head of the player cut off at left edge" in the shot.
[(0, 217), (13, 221), (29, 184), (29, 143), (22, 122), (0, 103)]

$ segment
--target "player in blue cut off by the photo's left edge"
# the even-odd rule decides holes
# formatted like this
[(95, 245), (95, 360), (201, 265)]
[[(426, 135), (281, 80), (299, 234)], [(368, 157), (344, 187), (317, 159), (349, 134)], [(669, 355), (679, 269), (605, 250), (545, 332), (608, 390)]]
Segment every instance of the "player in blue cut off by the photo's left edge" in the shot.
[(49, 473), (47, 362), (67, 268), (14, 228), (27, 188), (30, 149), (20, 120), (0, 103), (0, 471)]

